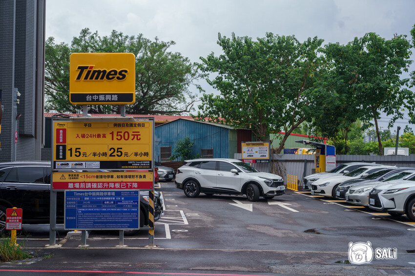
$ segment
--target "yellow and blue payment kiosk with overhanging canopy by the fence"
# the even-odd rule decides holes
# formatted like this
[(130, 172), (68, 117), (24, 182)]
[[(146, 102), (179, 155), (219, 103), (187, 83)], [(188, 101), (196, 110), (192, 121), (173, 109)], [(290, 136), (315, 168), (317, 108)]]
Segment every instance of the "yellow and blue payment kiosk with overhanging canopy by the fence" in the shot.
[(336, 167), (335, 146), (309, 140), (298, 140), (296, 142), (315, 147), (314, 164), (316, 173), (328, 172)]

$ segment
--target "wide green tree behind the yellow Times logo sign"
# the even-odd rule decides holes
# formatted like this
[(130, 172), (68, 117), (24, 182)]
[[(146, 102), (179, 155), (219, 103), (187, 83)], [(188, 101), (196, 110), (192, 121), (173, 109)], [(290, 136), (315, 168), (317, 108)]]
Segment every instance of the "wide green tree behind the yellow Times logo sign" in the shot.
[[(127, 36), (112, 31), (101, 37), (88, 28), (69, 46), (55, 44), (53, 38), (46, 40), (45, 53), (45, 110), (76, 112), (80, 106), (69, 102), (69, 56), (71, 53), (133, 53), (136, 57), (136, 101), (126, 106), (129, 114), (178, 115), (190, 112), (196, 101), (194, 86), (203, 92), (196, 83), (204, 77), (197, 65), (180, 53), (169, 52), (174, 41), (154, 41), (142, 34)], [(91, 113), (119, 113), (118, 106), (93, 105)]]

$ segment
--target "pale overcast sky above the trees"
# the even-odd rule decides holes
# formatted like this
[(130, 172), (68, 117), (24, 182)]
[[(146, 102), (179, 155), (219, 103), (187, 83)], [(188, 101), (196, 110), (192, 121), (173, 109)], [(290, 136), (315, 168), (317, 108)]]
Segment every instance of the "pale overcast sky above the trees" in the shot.
[[(200, 61), (221, 52), (218, 33), (255, 39), (271, 32), (300, 41), (317, 36), (341, 44), (368, 32), (410, 39), (414, 11), (415, 0), (46, 0), (46, 37), (70, 44), (83, 28), (100, 36), (112, 30), (141, 33), (148, 39), (174, 40), (171, 51)], [(207, 84), (203, 87), (213, 92)], [(403, 131), (407, 120), (399, 121)]]

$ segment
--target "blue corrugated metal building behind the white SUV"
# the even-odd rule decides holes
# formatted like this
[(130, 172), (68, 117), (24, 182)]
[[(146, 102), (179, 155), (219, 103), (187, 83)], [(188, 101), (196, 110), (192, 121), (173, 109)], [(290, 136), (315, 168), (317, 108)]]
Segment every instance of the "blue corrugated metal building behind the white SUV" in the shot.
[[(211, 158), (233, 158), (237, 153), (238, 132), (236, 129), (222, 124), (177, 119), (156, 126), (154, 129), (154, 158), (166, 160), (166, 150), (172, 154), (176, 141), (189, 137), (194, 142), (193, 154), (206, 154)], [(202, 154), (203, 153), (203, 154)]]

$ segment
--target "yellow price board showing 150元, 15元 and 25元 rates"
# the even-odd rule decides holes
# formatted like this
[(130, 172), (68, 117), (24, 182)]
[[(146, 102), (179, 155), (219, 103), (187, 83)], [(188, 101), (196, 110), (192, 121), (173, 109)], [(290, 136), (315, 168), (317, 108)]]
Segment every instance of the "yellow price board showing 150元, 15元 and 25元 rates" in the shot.
[(54, 169), (152, 169), (152, 121), (55, 121)]

